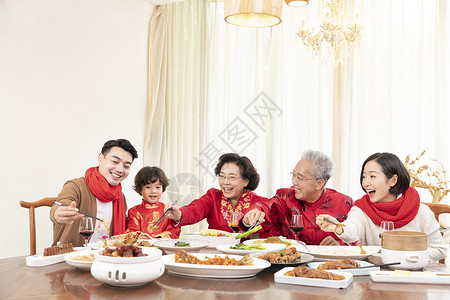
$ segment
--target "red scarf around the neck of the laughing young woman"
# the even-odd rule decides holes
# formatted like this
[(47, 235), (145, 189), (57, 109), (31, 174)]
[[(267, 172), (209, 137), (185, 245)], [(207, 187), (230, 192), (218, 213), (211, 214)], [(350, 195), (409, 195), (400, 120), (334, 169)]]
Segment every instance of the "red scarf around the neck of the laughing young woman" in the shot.
[(372, 203), (368, 195), (355, 202), (369, 218), (378, 226), (381, 221), (393, 221), (394, 228), (400, 228), (411, 222), (417, 215), (420, 206), (419, 193), (408, 188), (400, 198), (391, 202)]

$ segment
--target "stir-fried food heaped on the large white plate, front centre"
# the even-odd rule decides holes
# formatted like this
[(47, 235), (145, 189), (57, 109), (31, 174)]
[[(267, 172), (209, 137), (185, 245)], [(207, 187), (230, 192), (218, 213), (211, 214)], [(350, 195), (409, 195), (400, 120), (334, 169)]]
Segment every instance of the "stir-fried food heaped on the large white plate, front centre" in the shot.
[(241, 260), (236, 260), (227, 256), (220, 257), (215, 256), (214, 258), (205, 257), (204, 260), (187, 253), (184, 250), (177, 250), (175, 252), (175, 262), (195, 264), (195, 265), (221, 265), (221, 266), (248, 266), (253, 265), (253, 259), (249, 254), (244, 256)]

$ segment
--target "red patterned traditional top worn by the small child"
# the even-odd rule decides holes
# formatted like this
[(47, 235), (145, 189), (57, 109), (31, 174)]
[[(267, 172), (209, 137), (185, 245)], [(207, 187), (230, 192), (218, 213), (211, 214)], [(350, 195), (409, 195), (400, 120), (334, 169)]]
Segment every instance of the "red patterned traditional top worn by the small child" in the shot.
[(153, 224), (164, 214), (164, 204), (157, 202), (150, 204), (144, 200), (139, 205), (136, 205), (128, 210), (127, 230), (142, 231), (155, 236), (162, 232), (168, 232), (170, 238), (177, 239), (180, 235), (180, 228), (174, 227), (169, 218), (165, 218), (161, 224), (153, 228)]

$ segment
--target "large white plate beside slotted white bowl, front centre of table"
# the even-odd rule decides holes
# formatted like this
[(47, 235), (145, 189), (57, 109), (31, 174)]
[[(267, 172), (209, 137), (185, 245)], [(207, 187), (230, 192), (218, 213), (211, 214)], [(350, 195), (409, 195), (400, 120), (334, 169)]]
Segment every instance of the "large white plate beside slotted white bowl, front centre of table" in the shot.
[[(215, 256), (225, 257), (225, 254), (199, 253), (195, 255), (199, 259)], [(230, 258), (240, 260), (243, 256), (228, 255)], [(258, 272), (270, 267), (268, 261), (254, 258), (253, 265), (250, 266), (219, 266), (219, 265), (194, 265), (175, 262), (175, 255), (164, 255), (162, 261), (166, 269), (173, 274), (207, 277), (207, 278), (245, 278), (256, 275)]]

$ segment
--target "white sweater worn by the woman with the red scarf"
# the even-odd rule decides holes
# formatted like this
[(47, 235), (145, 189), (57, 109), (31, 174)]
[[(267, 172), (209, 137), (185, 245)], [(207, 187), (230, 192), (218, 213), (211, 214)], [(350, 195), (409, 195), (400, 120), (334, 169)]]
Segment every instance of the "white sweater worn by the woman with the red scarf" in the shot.
[[(338, 235), (345, 243), (362, 241), (367, 246), (380, 246), (380, 227), (357, 206), (353, 206), (348, 212), (344, 232)], [(425, 204), (420, 204), (416, 217), (398, 231), (420, 231), (427, 234), (430, 261), (440, 260), (447, 253), (447, 245), (439, 232), (439, 223), (433, 212)]]

